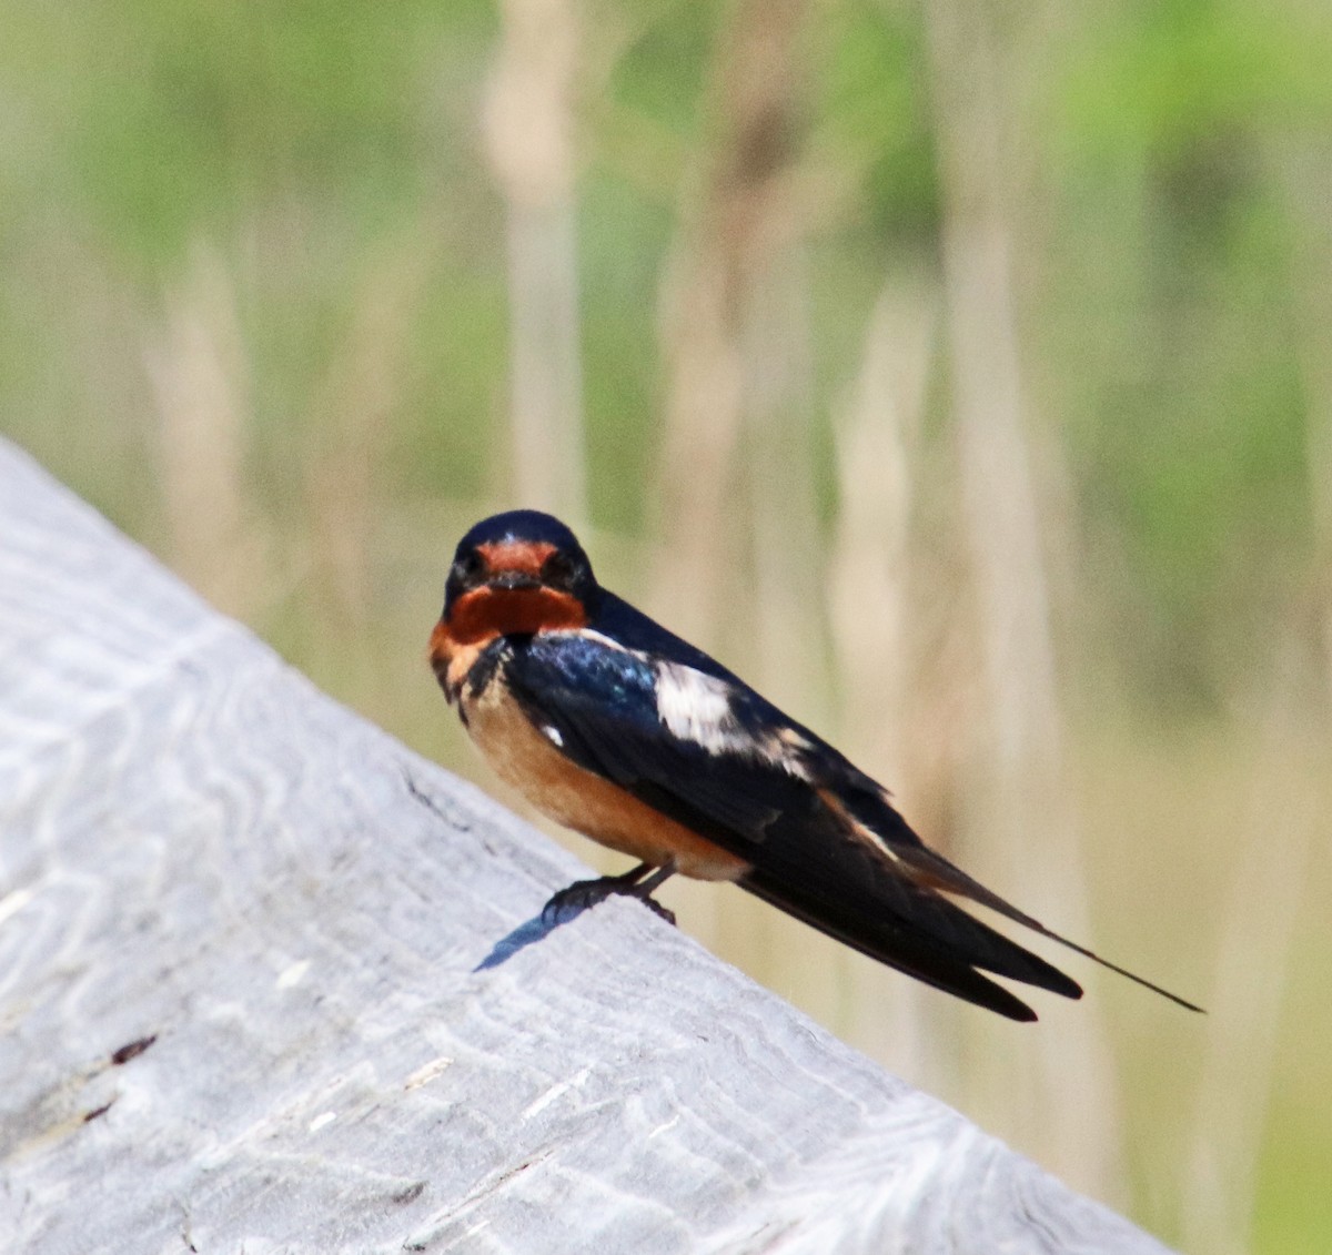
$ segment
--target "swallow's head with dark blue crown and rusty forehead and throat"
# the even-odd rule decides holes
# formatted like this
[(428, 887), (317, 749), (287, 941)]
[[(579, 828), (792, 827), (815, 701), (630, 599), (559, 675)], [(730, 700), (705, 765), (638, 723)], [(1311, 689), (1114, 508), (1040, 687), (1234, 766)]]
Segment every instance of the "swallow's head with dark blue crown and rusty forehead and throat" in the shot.
[(440, 629), (454, 645), (497, 635), (581, 628), (597, 580), (578, 538), (558, 518), (510, 510), (461, 541), (444, 586)]

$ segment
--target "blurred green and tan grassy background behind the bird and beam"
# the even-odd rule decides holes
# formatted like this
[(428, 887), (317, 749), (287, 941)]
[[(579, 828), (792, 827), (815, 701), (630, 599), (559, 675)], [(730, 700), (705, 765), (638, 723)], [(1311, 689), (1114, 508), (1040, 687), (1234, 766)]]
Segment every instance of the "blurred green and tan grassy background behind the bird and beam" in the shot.
[(1211, 1014), (683, 927), (1184, 1250), (1332, 1248), (1332, 9), (0, 13), (4, 434), (497, 793), (425, 638), (472, 521), (563, 514)]

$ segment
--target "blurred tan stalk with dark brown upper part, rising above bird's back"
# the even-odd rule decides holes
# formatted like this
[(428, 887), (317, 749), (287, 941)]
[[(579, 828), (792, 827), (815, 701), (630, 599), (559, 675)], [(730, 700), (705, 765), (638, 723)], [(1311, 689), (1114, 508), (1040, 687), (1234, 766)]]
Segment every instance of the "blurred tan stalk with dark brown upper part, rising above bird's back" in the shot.
[(795, 234), (790, 196), (803, 0), (742, 0), (711, 73), (714, 137), (697, 207), (686, 210), (663, 286), (669, 370), (657, 510), (655, 601), (707, 642), (734, 586), (743, 537), (735, 454), (747, 392), (746, 326), (779, 244)]

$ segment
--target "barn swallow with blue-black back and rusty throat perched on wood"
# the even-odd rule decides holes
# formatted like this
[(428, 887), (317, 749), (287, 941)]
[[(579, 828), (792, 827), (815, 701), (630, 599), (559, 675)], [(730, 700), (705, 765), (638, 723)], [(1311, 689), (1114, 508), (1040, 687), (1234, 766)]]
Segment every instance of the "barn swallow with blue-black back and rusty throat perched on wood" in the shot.
[(458, 544), (430, 662), (498, 775), (557, 823), (638, 859), (543, 911), (669, 877), (733, 881), (871, 958), (1032, 1021), (984, 973), (1066, 998), (1082, 989), (976, 919), (970, 899), (1147, 989), (1199, 1007), (1051, 931), (936, 854), (888, 791), (706, 653), (593, 576), (573, 532), (535, 510)]

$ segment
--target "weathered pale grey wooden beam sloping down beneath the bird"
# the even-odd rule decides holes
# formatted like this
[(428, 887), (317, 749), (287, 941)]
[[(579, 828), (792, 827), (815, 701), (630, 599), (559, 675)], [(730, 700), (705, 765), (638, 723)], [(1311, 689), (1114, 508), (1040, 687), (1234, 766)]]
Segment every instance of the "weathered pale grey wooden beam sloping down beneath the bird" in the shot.
[(1162, 1250), (578, 874), (0, 445), (0, 1248)]

